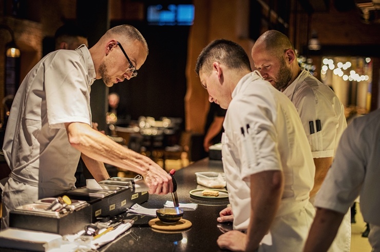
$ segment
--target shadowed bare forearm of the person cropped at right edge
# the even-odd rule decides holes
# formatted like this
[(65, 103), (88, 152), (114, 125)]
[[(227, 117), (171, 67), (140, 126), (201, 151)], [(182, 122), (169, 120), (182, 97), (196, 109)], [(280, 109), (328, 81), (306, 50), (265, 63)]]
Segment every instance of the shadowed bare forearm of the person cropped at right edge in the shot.
[(342, 213), (318, 208), (303, 251), (327, 251), (336, 236), (344, 216)]

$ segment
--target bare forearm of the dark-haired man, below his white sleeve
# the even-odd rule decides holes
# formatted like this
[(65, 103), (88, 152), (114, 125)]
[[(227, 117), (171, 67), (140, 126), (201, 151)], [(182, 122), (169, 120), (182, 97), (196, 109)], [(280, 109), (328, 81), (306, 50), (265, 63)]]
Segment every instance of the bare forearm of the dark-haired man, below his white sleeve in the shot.
[(283, 175), (268, 171), (251, 175), (251, 219), (247, 251), (254, 251), (268, 233), (283, 192)]

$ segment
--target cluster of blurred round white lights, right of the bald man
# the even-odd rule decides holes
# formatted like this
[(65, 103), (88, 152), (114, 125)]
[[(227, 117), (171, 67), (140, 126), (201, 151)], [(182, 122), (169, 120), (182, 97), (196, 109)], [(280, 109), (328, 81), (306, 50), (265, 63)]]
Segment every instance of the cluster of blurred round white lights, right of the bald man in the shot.
[[(369, 63), (370, 61), (371, 61), (371, 58), (366, 58), (367, 63)], [(330, 69), (333, 71), (335, 75), (342, 77), (343, 80), (349, 80), (349, 81), (354, 80), (354, 81), (359, 82), (359, 81), (364, 81), (364, 80), (369, 79), (368, 75), (359, 75), (358, 73), (355, 72), (355, 70), (350, 70), (348, 74), (349, 68), (351, 68), (352, 66), (350, 61), (347, 61), (344, 64), (342, 62), (337, 62), (336, 67), (335, 67), (333, 59), (324, 58), (322, 62), (324, 64), (322, 66), (322, 70), (320, 71), (322, 76), (325, 75), (327, 71)]]

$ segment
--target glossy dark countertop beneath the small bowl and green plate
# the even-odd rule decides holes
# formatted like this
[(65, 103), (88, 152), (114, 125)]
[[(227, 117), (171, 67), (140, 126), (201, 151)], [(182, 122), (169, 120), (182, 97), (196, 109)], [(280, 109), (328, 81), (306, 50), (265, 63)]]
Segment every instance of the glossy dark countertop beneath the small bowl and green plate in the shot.
[[(192, 227), (177, 232), (163, 233), (149, 227), (153, 217), (138, 217), (130, 231), (117, 240), (100, 248), (99, 251), (221, 251), (216, 243), (222, 234), (216, 218), (226, 207), (228, 201), (203, 201), (190, 197), (189, 192), (203, 188), (196, 181), (195, 172), (222, 172), (222, 162), (208, 160), (197, 161), (174, 175), (177, 181), (177, 194), (180, 203), (197, 203), (195, 211), (185, 211), (183, 218), (192, 222)], [(198, 187), (197, 187), (198, 186)], [(149, 200), (142, 204), (146, 208), (162, 208), (167, 201), (173, 201), (172, 195), (149, 195)], [(232, 228), (223, 224), (224, 228)]]

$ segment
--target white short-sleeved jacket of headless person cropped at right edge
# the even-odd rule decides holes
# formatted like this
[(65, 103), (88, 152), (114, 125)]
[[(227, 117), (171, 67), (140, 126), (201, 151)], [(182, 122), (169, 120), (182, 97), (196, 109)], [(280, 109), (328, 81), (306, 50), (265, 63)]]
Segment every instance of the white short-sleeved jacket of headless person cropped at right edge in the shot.
[[(375, 251), (380, 251), (379, 177), (380, 109), (355, 118), (348, 125), (315, 199), (317, 207), (346, 213), (360, 195), (360, 212), (371, 225), (369, 241)], [(372, 232), (372, 226), (378, 232)]]

